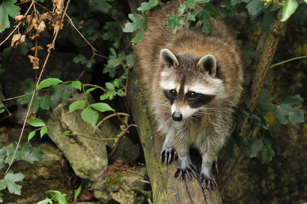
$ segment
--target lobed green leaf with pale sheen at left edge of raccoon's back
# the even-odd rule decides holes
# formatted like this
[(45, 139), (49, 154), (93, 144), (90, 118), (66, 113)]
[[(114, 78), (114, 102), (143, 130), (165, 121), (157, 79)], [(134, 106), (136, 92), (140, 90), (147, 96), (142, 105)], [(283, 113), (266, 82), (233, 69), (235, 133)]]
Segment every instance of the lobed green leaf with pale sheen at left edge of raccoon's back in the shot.
[(134, 32), (136, 29), (139, 29), (138, 33), (131, 40), (132, 43), (142, 41), (144, 38), (144, 32), (147, 29), (147, 19), (137, 13), (130, 13), (128, 17), (133, 21), (132, 23), (125, 23), (125, 28), (122, 29), (123, 32)]

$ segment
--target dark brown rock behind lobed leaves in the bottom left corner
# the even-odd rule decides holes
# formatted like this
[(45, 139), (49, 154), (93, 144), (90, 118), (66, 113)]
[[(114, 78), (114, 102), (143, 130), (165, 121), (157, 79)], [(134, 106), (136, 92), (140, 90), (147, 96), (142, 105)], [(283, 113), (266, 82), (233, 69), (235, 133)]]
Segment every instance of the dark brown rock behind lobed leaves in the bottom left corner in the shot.
[[(50, 198), (49, 190), (58, 190), (67, 194), (66, 200), (72, 202), (73, 192), (69, 185), (68, 162), (64, 160), (63, 153), (49, 144), (39, 145), (45, 152), (43, 161), (30, 164), (27, 161), (15, 161), (11, 166), (14, 174), (22, 172), (25, 178), (16, 184), (21, 185), (21, 195), (3, 193), (3, 202), (10, 204), (36, 204)], [(33, 147), (32, 147), (33, 148)], [(36, 148), (36, 147), (35, 147)], [(33, 149), (31, 150), (33, 151)], [(8, 165), (0, 171), (3, 175)]]

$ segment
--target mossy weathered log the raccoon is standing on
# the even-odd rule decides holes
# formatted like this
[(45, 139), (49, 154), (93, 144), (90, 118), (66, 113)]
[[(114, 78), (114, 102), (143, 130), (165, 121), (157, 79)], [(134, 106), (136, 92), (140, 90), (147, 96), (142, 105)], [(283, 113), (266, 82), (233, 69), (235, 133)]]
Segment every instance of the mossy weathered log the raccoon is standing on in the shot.
[[(179, 177), (175, 178), (174, 173), (179, 165), (178, 159), (168, 165), (161, 163), (160, 151), (164, 135), (157, 132), (154, 121), (150, 119), (142, 92), (142, 85), (137, 72), (130, 72), (127, 100), (134, 123), (138, 125), (137, 130), (145, 154), (146, 167), (153, 192), (153, 202), (163, 204), (222, 203), (218, 189), (215, 191), (205, 189), (203, 191), (195, 177), (192, 180), (186, 177), (183, 181)], [(193, 162), (194, 164), (196, 163), (195, 158)], [(197, 162), (199, 169), (200, 162)]]

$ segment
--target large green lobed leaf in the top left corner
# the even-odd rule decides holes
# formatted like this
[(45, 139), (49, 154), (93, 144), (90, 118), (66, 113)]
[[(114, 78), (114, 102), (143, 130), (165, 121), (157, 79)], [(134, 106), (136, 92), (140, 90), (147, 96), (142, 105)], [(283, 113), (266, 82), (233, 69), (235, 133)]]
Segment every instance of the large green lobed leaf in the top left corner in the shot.
[(16, 2), (17, 0), (2, 1), (2, 5), (0, 5), (0, 33), (2, 33), (6, 28), (10, 28), (8, 16), (14, 18), (20, 14), (20, 7), (14, 5)]

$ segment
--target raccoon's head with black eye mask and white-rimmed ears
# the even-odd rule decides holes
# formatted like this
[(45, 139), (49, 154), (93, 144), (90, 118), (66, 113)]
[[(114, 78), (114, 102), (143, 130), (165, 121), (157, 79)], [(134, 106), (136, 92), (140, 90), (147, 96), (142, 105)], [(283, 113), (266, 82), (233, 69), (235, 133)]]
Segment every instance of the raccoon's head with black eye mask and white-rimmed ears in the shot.
[[(223, 96), (223, 80), (216, 78), (216, 59), (208, 54), (193, 58), (177, 57), (169, 50), (161, 50), (164, 69), (160, 87), (172, 106), (172, 118), (181, 121), (190, 116), (201, 116), (206, 104)], [(197, 113), (199, 112), (199, 113)]]

